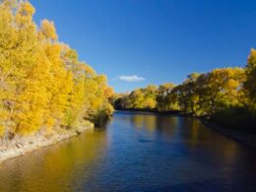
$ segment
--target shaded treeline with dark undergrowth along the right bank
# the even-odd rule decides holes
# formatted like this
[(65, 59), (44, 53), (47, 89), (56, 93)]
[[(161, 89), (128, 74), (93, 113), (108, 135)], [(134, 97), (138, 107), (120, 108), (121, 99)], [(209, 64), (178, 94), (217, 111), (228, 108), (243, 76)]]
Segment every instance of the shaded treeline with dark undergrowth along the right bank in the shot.
[(183, 111), (232, 128), (256, 130), (256, 50), (245, 68), (193, 73), (181, 84), (166, 83), (115, 95), (116, 109)]

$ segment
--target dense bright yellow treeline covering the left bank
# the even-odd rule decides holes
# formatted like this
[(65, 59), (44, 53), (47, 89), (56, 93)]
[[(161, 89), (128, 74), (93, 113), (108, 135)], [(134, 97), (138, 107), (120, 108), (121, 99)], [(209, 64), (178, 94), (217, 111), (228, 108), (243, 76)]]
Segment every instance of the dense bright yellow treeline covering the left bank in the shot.
[(26, 135), (100, 120), (112, 112), (106, 77), (58, 41), (54, 24), (37, 27), (29, 1), (0, 1), (0, 135)]

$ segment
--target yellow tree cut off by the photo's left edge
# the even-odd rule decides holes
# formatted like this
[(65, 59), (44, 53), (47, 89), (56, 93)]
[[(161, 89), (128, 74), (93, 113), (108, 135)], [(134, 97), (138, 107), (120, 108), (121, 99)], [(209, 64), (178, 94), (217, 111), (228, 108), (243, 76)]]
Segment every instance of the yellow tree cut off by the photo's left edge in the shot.
[(15, 48), (18, 44), (17, 30), (12, 26), (13, 7), (8, 1), (0, 6), (0, 118), (1, 136), (9, 132), (12, 125), (11, 113), (14, 107), (14, 83), (11, 80), (15, 71), (13, 66)]

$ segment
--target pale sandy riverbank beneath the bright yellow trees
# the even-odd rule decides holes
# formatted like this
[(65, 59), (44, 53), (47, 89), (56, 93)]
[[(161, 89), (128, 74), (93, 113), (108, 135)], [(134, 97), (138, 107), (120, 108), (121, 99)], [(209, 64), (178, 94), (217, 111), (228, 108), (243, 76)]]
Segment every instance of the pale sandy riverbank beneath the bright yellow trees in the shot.
[(93, 129), (94, 124), (89, 122), (87, 126), (76, 130), (54, 129), (51, 132), (39, 132), (32, 136), (15, 137), (11, 141), (0, 141), (0, 163), (20, 156), (24, 156), (34, 150), (54, 145), (63, 140), (75, 137), (82, 132)]

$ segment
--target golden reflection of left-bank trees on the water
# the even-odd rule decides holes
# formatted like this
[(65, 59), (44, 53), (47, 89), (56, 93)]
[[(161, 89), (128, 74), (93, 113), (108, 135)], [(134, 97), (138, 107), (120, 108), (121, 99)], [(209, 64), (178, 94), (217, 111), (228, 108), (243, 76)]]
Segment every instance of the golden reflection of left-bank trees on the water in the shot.
[[(104, 131), (88, 131), (70, 141), (22, 157), (0, 169), (0, 190), (63, 191), (83, 167), (95, 163), (105, 151)], [(82, 169), (81, 169), (82, 168)], [(13, 171), (10, 171), (13, 170)], [(82, 173), (82, 172), (81, 172)]]

